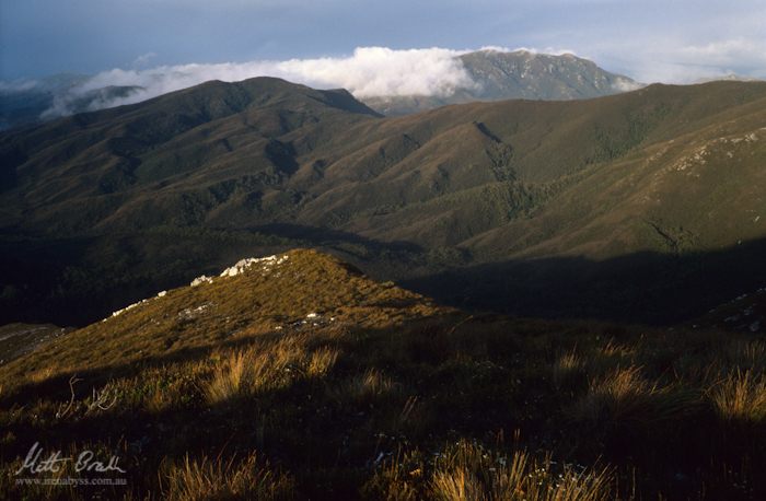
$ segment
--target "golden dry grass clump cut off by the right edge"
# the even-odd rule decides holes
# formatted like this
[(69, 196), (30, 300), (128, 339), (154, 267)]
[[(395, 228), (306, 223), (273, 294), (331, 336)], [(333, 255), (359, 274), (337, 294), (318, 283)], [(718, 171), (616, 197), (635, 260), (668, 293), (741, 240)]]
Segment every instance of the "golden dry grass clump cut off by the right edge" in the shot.
[(762, 422), (766, 418), (766, 380), (751, 371), (730, 373), (710, 391), (717, 415), (724, 421)]

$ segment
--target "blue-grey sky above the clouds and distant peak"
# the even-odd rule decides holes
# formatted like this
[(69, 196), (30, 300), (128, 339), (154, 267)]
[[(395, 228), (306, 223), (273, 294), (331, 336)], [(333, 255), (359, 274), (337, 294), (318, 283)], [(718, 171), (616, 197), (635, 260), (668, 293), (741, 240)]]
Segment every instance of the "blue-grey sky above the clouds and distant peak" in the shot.
[(0, 80), (347, 57), (571, 50), (638, 80), (766, 77), (766, 1), (0, 0)]

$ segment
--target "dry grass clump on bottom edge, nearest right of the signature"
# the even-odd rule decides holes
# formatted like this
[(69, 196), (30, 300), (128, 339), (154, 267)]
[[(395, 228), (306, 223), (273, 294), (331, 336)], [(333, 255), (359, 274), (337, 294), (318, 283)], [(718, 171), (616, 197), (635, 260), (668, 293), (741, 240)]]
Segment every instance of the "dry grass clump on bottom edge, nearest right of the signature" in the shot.
[(193, 500), (287, 500), (294, 499), (294, 481), (275, 471), (268, 463), (259, 464), (255, 454), (235, 463), (184, 458), (171, 465), (163, 479), (163, 498), (171, 501)]

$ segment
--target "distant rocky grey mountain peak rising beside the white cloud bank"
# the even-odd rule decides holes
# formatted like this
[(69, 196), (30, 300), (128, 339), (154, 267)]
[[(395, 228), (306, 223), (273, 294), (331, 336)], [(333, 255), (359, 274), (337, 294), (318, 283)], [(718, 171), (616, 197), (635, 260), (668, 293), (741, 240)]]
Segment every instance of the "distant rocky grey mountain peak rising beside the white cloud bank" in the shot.
[(634, 91), (641, 84), (571, 54), (478, 50), (459, 57), (475, 86), (444, 96), (380, 96), (364, 100), (384, 115), (406, 115), (473, 101), (567, 101)]

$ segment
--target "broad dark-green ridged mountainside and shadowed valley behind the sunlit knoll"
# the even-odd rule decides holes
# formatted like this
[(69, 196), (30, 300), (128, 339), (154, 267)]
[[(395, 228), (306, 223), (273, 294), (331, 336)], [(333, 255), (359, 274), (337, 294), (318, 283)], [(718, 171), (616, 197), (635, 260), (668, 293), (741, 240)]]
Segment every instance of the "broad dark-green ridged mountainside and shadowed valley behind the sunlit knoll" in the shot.
[(766, 283), (765, 110), (766, 84), (716, 82), (382, 118), (252, 79), (10, 131), (3, 314), (81, 322), (314, 246), (457, 304), (690, 317)]

